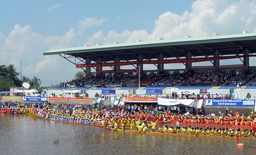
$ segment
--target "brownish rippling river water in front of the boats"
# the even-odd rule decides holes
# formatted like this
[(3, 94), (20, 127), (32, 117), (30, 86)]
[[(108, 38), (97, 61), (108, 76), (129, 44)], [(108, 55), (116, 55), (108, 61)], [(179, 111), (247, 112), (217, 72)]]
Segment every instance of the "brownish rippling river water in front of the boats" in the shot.
[[(59, 140), (59, 144), (53, 144)], [(148, 135), (0, 113), (0, 154), (256, 154), (256, 140)]]

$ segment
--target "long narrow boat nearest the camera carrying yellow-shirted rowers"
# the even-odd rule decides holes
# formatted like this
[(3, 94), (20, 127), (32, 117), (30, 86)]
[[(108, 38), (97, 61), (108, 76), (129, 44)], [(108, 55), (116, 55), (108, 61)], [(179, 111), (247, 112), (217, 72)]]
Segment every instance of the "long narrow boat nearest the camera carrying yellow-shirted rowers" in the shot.
[[(208, 138), (237, 138), (235, 136), (215, 136), (215, 135), (195, 135), (195, 134), (175, 134), (175, 133), (159, 133), (159, 132), (151, 132), (151, 131), (147, 131), (147, 132), (139, 132), (137, 130), (129, 130), (129, 129), (114, 129), (114, 128), (110, 128), (107, 126), (102, 126), (100, 124), (98, 124), (97, 122), (95, 122), (95, 124), (99, 127), (111, 130), (111, 131), (116, 131), (116, 132), (126, 132), (126, 133), (137, 133), (137, 134), (150, 134), (150, 135), (171, 135), (171, 136), (189, 136), (189, 137), (208, 137)], [(239, 137), (239, 139), (245, 139), (245, 140), (255, 140), (255, 137)]]

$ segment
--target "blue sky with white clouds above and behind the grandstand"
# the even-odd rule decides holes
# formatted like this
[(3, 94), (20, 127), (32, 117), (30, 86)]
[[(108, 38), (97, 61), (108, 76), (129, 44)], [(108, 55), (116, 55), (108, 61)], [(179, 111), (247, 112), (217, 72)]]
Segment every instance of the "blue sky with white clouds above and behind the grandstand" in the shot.
[[(14, 64), (22, 76), (37, 76), (41, 86), (51, 86), (73, 79), (82, 69), (59, 55), (45, 56), (43, 52), (186, 35), (256, 32), (256, 0), (9, 0), (0, 1), (0, 21), (0, 64)], [(255, 62), (250, 60), (250, 65)], [(220, 62), (233, 63), (242, 64), (239, 60)]]

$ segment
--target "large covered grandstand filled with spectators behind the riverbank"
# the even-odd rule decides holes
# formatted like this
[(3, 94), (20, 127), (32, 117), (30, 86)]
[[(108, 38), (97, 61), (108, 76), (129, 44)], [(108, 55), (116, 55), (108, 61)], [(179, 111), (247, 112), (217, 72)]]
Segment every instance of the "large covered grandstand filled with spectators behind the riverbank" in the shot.
[[(256, 67), (249, 66), (249, 58), (255, 56), (255, 49), (256, 33), (243, 31), (237, 35), (64, 48), (43, 54), (58, 54), (83, 69), (86, 75), (53, 89), (86, 89), (92, 93), (110, 89), (118, 94), (131, 89), (145, 93), (143, 90), (170, 87), (226, 90), (239, 85), (253, 89)], [(243, 64), (220, 66), (220, 60), (225, 59), (240, 59)], [(213, 66), (193, 67), (194, 62), (202, 61), (211, 61)], [(180, 63), (184, 68), (165, 70), (166, 63)], [(143, 64), (155, 64), (157, 70), (143, 70)], [(123, 70), (123, 65), (134, 69)], [(113, 70), (103, 70), (107, 66)], [(96, 71), (91, 72), (92, 68)]]

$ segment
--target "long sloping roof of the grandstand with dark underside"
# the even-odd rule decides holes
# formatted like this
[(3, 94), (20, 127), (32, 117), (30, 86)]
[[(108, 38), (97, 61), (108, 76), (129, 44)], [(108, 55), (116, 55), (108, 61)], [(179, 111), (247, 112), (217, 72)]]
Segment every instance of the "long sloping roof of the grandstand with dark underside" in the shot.
[(71, 55), (75, 58), (92, 61), (101, 59), (103, 62), (114, 61), (119, 56), (120, 61), (136, 60), (137, 55), (142, 59), (157, 59), (159, 53), (166, 58), (186, 57), (187, 51), (191, 57), (212, 56), (213, 51), (218, 50), (222, 55), (243, 54), (247, 48), (249, 54), (256, 53), (256, 33), (237, 35), (215, 35), (210, 37), (186, 37), (180, 39), (158, 39), (154, 41), (137, 41), (135, 43), (114, 43), (108, 45), (95, 45), (74, 48), (62, 48), (44, 52), (43, 55)]

